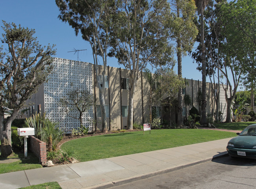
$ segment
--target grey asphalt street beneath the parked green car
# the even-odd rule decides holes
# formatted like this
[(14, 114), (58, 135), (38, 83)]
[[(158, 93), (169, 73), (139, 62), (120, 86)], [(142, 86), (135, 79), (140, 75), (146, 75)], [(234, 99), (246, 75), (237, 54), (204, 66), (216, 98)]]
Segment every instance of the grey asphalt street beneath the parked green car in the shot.
[(256, 160), (216, 158), (114, 189), (255, 189)]

